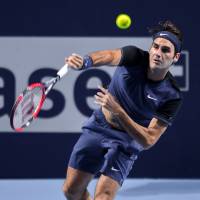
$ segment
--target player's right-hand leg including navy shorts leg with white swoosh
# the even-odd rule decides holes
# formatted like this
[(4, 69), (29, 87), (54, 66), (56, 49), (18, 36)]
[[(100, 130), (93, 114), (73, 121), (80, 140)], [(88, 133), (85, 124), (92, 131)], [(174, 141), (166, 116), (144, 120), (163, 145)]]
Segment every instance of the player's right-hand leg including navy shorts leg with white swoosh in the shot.
[(105, 140), (104, 146), (109, 146), (107, 153), (104, 155), (105, 161), (101, 168), (102, 175), (96, 186), (95, 200), (112, 200), (118, 189), (128, 176), (135, 158), (125, 151), (122, 146), (112, 141), (109, 143)]

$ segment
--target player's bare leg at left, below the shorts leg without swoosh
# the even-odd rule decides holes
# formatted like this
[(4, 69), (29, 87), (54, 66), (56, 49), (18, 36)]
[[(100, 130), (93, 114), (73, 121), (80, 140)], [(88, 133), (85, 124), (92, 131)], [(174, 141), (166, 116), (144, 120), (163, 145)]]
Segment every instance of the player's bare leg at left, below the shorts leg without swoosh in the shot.
[(93, 174), (68, 167), (66, 180), (63, 184), (63, 192), (68, 200), (92, 200), (87, 186)]

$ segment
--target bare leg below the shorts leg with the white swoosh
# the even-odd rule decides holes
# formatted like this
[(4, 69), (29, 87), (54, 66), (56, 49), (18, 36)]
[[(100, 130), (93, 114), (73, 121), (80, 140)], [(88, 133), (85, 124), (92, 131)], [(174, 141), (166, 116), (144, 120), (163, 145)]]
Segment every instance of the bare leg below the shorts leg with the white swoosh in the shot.
[(116, 180), (102, 174), (96, 185), (95, 200), (114, 199), (119, 188), (120, 185)]

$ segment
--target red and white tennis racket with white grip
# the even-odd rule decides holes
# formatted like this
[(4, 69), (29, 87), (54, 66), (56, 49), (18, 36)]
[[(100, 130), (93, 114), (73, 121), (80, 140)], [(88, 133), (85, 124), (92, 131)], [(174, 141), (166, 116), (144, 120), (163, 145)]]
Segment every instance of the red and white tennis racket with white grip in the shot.
[(23, 131), (37, 118), (47, 94), (68, 71), (69, 67), (66, 64), (57, 72), (56, 77), (44, 83), (32, 83), (17, 97), (10, 113), (10, 125), (13, 130)]

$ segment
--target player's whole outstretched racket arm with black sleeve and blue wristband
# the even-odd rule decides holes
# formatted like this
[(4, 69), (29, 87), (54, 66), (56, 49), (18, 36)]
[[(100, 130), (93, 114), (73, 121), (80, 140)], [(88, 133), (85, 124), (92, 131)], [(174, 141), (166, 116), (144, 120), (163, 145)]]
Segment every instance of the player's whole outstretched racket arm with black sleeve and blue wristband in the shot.
[(75, 69), (88, 68), (86, 61), (91, 66), (126, 66), (132, 67), (143, 61), (147, 61), (148, 53), (135, 47), (125, 46), (119, 49), (96, 51), (82, 57), (78, 54), (72, 54), (65, 58), (65, 63)]

